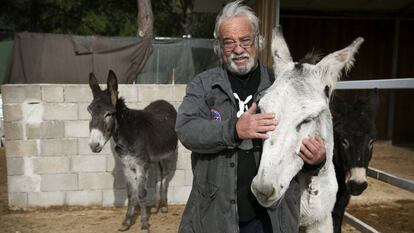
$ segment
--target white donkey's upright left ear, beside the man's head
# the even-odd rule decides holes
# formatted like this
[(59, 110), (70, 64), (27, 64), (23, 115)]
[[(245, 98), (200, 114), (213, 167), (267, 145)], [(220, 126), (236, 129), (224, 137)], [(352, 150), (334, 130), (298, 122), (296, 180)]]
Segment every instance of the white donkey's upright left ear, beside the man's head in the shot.
[(280, 71), (284, 70), (289, 62), (292, 62), (289, 47), (283, 37), (282, 26), (277, 26), (272, 33), (272, 55), (273, 55), (273, 70), (277, 78)]

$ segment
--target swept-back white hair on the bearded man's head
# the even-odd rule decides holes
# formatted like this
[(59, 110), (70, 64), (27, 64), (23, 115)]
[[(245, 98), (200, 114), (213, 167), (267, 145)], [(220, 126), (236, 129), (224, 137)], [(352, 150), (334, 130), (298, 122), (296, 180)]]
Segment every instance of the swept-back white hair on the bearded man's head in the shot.
[(237, 0), (228, 3), (224, 6), (221, 13), (216, 18), (216, 26), (214, 27), (214, 38), (216, 39), (214, 44), (214, 52), (219, 56), (220, 61), (222, 57), (222, 51), (220, 48), (220, 25), (224, 20), (235, 18), (238, 16), (246, 16), (250, 22), (250, 25), (254, 34), (254, 46), (260, 51), (264, 48), (264, 37), (259, 34), (259, 18), (253, 10), (242, 4), (242, 0)]

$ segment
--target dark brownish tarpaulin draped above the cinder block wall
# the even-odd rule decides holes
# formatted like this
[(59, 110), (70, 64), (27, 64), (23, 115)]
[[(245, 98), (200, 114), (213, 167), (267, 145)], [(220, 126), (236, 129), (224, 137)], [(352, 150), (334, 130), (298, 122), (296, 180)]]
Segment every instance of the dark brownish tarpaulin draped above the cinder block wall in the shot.
[(151, 39), (17, 33), (4, 83), (86, 84), (94, 72), (106, 83), (132, 83), (152, 51)]

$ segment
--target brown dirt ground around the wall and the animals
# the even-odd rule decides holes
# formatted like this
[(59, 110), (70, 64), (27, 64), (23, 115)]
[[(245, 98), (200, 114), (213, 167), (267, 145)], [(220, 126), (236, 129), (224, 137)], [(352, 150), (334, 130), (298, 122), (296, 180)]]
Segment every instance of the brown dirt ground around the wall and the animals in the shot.
[[(370, 166), (414, 180), (414, 150), (377, 142)], [(379, 232), (414, 232), (414, 194), (369, 178), (368, 189), (353, 197), (348, 212)], [(175, 233), (184, 206), (171, 205), (168, 213), (150, 218), (152, 233)], [(117, 232), (125, 208), (59, 207), (32, 211), (7, 208), (6, 161), (0, 151), (0, 233), (113, 233)], [(344, 233), (359, 232), (344, 224)], [(128, 232), (140, 232), (136, 223)]]

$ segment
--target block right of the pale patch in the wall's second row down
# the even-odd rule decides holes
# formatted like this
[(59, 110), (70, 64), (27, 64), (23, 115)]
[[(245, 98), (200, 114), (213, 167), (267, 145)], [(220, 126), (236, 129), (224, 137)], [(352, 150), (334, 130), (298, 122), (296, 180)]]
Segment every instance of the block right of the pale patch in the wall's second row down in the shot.
[(75, 103), (45, 103), (43, 120), (77, 120), (78, 105)]

